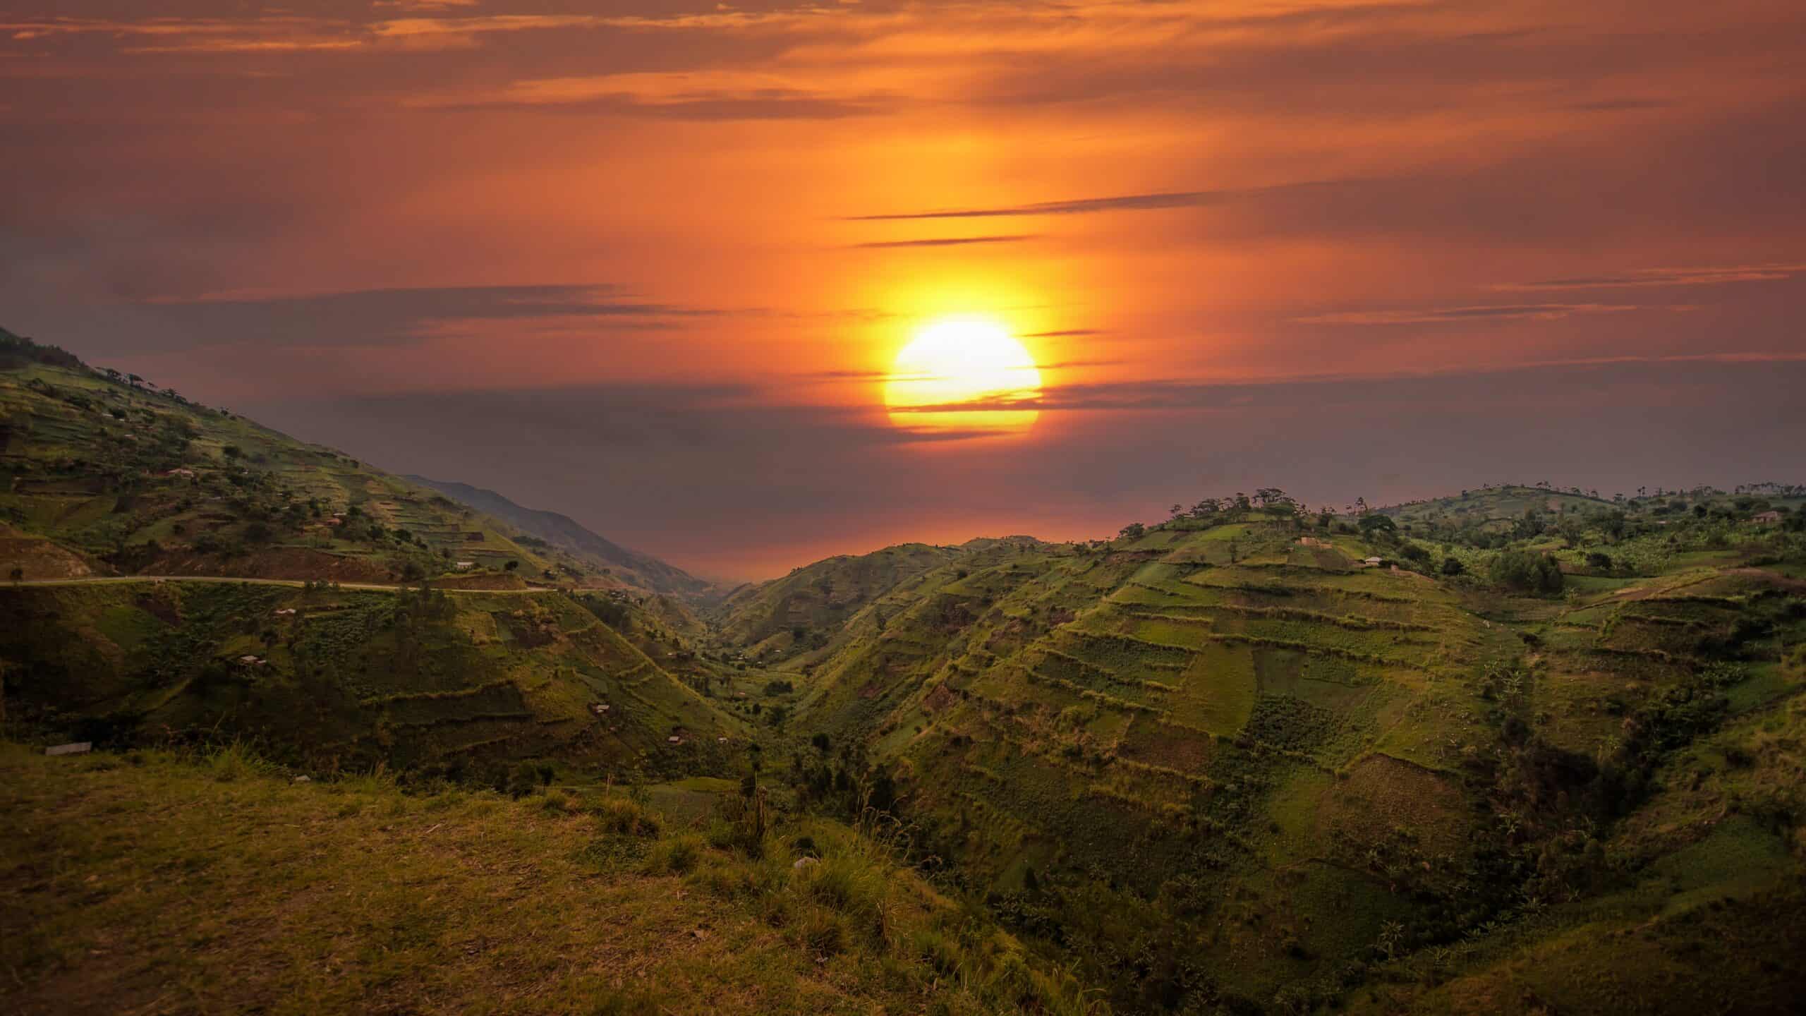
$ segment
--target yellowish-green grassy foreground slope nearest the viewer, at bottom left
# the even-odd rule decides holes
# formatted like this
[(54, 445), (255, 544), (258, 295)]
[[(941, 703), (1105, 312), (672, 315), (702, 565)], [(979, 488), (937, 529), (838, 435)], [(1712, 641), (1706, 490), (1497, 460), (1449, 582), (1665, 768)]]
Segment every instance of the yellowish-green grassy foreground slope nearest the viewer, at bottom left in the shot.
[[(294, 785), (242, 752), (0, 743), (0, 1007), (1082, 1012), (995, 927), (811, 821), (764, 859), (596, 792)], [(791, 837), (822, 862), (791, 866)]]

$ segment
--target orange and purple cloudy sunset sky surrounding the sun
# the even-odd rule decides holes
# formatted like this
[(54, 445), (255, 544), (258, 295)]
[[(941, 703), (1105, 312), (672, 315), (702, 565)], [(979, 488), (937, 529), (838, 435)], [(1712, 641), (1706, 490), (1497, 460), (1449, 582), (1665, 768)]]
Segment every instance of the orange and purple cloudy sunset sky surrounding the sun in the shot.
[(0, 325), (706, 573), (1806, 465), (1799, 4), (9, 7)]

